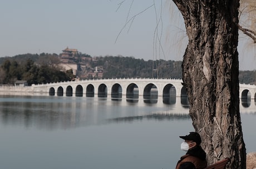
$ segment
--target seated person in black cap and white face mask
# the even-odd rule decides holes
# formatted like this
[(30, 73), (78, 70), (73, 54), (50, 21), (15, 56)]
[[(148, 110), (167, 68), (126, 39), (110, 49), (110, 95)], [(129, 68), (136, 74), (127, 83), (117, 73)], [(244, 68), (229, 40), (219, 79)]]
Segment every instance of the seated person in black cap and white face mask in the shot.
[(180, 157), (176, 169), (203, 169), (207, 166), (206, 153), (201, 148), (201, 137), (197, 132), (190, 132), (186, 136), (180, 136), (184, 141), (181, 143), (181, 150), (186, 151)]

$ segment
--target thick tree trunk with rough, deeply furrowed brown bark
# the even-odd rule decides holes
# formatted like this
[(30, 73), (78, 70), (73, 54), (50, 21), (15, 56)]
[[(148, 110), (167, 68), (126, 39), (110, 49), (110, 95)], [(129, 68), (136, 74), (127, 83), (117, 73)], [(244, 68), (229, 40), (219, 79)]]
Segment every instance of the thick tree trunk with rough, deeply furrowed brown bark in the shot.
[(183, 60), (189, 114), (202, 137), (208, 165), (230, 158), (226, 168), (245, 168), (239, 112), (239, 0), (173, 0), (189, 38)]

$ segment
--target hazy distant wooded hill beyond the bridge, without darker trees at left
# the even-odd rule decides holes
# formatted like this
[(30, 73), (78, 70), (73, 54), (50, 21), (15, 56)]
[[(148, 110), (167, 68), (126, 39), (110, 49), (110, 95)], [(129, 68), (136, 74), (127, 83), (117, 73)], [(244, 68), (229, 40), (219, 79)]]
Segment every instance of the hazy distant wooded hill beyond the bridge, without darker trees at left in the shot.
[[(83, 59), (86, 57), (87, 59)], [(58, 58), (58, 59), (57, 59)], [(60, 55), (57, 54), (22, 54), (14, 57), (0, 58), (0, 64), (4, 60), (16, 60), (24, 63), (27, 59), (33, 60), (37, 64), (60, 62)], [(91, 59), (88, 59), (91, 58)], [(58, 60), (58, 61), (57, 61)], [(92, 78), (182, 78), (181, 61), (174, 60), (144, 60), (134, 57), (105, 56), (91, 57), (88, 54), (78, 53), (72, 58), (72, 63), (77, 64), (77, 75), (80, 79)], [(90, 71), (100, 68), (103, 71), (101, 76), (90, 76)], [(256, 84), (256, 70), (239, 71), (240, 83)]]

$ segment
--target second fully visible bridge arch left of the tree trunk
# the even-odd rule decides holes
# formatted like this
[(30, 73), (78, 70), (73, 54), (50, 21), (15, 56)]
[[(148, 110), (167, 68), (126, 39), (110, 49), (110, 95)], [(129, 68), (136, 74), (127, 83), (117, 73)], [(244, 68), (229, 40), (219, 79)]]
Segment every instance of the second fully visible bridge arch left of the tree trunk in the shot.
[(145, 86), (143, 92), (144, 103), (157, 103), (158, 89), (156, 85), (149, 83)]

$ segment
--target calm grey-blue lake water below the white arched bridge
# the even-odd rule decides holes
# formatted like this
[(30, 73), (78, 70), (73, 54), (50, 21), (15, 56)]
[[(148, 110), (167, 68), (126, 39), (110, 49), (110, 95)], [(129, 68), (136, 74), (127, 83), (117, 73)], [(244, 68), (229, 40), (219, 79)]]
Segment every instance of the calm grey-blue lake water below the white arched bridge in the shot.
[[(2, 96), (1, 168), (175, 168), (185, 153), (179, 136), (193, 131), (188, 106), (179, 102)], [(252, 152), (256, 110), (248, 112), (241, 116), (247, 152)]]

